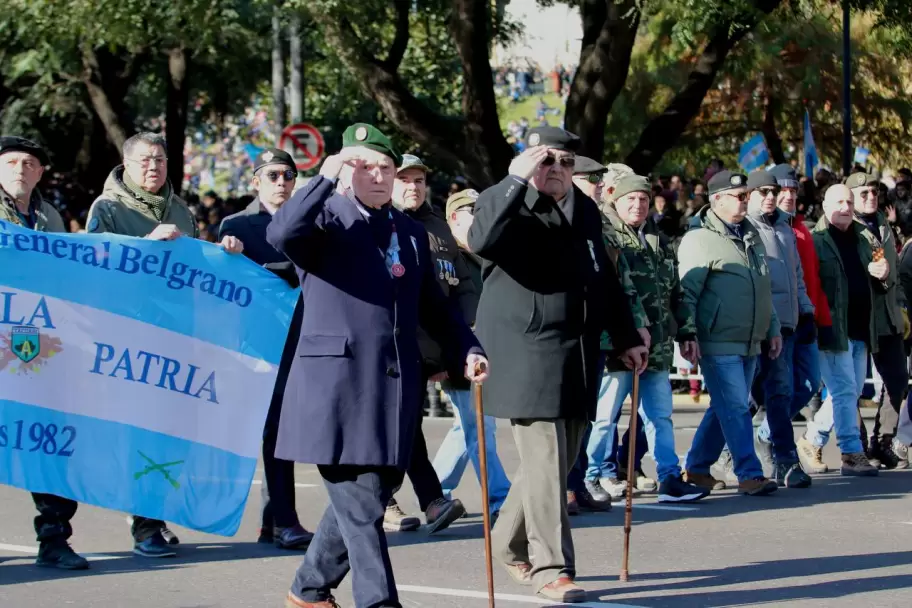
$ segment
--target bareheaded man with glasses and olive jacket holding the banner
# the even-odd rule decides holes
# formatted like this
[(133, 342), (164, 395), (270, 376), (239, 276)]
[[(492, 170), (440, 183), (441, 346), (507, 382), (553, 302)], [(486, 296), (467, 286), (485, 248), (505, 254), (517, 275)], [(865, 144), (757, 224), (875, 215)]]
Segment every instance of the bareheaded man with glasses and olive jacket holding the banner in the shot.
[[(87, 232), (110, 232), (170, 241), (182, 235), (199, 237), (193, 213), (168, 181), (165, 138), (138, 133), (124, 142), (123, 164), (111, 171), (101, 195), (92, 203)], [(244, 244), (234, 236), (220, 243), (228, 253), (241, 253)], [(169, 545), (179, 543), (165, 522), (139, 515), (132, 518), (133, 553), (143, 557), (173, 557)]]

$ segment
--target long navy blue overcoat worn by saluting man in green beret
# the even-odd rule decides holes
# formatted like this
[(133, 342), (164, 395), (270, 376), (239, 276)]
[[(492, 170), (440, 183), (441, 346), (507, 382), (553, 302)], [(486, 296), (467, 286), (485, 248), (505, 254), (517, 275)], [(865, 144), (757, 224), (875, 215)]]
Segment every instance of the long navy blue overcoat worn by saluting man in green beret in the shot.
[(304, 303), (275, 455), (404, 469), (424, 397), (419, 323), (454, 368), (482, 351), (437, 284), (421, 224), (391, 210), (405, 266), (393, 278), (358, 203), (334, 190), (314, 178), (266, 232), (297, 267)]

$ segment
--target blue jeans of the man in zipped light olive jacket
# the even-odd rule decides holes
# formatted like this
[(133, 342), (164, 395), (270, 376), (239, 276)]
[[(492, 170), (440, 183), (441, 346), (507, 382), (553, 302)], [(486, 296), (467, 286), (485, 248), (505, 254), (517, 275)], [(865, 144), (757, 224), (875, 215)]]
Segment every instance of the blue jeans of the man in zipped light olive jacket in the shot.
[(709, 408), (694, 435), (685, 468), (691, 473), (708, 475), (727, 443), (739, 481), (763, 477), (760, 460), (754, 452), (754, 426), (748, 401), (757, 357), (703, 355), (700, 369), (709, 391)]

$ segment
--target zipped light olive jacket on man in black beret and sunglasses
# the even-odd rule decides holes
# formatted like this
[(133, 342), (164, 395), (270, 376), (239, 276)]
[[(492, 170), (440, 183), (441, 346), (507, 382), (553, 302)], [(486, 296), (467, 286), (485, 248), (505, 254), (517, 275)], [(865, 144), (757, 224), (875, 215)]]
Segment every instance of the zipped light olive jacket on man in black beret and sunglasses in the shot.
[(763, 241), (746, 219), (738, 238), (709, 205), (694, 217), (678, 248), (678, 274), (700, 352), (756, 355), (763, 340), (780, 335)]

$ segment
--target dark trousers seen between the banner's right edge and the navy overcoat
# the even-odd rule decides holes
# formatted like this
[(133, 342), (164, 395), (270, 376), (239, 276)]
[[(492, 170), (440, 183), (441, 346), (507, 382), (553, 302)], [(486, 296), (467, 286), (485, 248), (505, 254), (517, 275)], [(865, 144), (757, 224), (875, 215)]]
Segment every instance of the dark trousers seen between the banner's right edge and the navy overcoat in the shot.
[(275, 446), (279, 438), (279, 419), (282, 414), (282, 401), (285, 398), (285, 385), (294, 361), (303, 316), (304, 305), (298, 298), (288, 328), (282, 359), (279, 362), (272, 401), (269, 402), (269, 412), (266, 414), (266, 424), (263, 427), (263, 472), (266, 479), (260, 493), (263, 509), (261, 527), (266, 529), (290, 528), (300, 523), (295, 509), (294, 462), (276, 458)]

